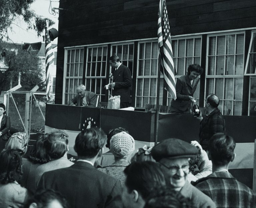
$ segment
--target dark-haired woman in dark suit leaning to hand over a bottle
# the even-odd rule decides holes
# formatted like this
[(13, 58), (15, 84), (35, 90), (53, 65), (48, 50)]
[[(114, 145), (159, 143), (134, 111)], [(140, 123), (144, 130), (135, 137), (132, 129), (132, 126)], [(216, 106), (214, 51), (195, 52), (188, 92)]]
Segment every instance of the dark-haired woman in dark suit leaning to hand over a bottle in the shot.
[(203, 69), (198, 64), (192, 64), (188, 67), (188, 74), (181, 76), (176, 81), (177, 99), (172, 99), (170, 112), (172, 113), (190, 113), (191, 102), (199, 82), (199, 75), (203, 73)]

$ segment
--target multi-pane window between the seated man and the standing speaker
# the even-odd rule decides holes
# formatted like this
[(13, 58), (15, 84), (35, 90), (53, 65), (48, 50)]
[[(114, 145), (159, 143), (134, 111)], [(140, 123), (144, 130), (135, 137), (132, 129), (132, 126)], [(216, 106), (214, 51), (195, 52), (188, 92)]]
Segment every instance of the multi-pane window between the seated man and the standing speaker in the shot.
[(107, 46), (96, 46), (87, 48), (85, 72), (86, 90), (99, 95), (99, 101), (104, 100), (106, 85)]

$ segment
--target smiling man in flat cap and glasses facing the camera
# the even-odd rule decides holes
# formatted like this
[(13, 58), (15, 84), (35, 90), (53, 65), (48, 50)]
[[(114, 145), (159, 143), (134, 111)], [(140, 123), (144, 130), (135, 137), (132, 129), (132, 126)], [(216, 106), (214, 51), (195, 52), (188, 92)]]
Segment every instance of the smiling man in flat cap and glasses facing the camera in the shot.
[(192, 201), (193, 207), (216, 207), (210, 197), (195, 188), (187, 180), (189, 174), (189, 158), (198, 154), (198, 149), (180, 139), (165, 139), (151, 150), (153, 158), (161, 164), (168, 174), (167, 182), (171, 188), (179, 191)]

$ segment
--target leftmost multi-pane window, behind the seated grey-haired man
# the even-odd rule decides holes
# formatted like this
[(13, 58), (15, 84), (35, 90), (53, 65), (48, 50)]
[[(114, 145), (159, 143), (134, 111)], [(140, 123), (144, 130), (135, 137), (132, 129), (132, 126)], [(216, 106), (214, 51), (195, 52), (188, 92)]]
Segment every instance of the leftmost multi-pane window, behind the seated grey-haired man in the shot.
[(83, 59), (83, 48), (66, 50), (63, 80), (63, 89), (65, 89), (63, 104), (68, 104), (68, 101), (77, 94), (77, 86), (82, 84)]

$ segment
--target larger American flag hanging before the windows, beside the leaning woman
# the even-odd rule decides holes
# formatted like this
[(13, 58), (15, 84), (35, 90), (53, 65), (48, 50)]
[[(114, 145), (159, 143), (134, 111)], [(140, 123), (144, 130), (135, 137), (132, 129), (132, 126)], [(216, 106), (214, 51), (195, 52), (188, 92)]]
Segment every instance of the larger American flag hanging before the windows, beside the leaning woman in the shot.
[(165, 0), (160, 0), (158, 12), (158, 49), (159, 65), (164, 75), (164, 84), (167, 91), (176, 100), (174, 63), (172, 56), (172, 42), (170, 37), (170, 27)]

